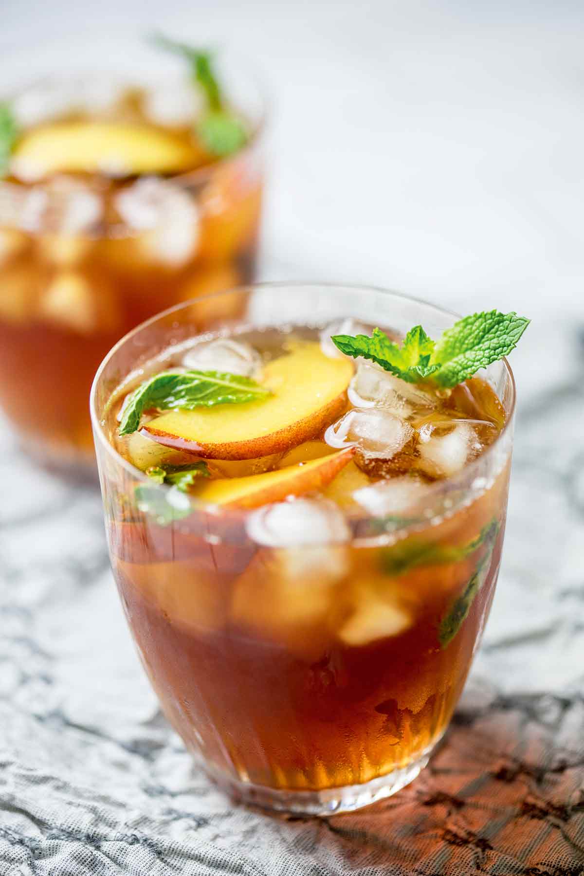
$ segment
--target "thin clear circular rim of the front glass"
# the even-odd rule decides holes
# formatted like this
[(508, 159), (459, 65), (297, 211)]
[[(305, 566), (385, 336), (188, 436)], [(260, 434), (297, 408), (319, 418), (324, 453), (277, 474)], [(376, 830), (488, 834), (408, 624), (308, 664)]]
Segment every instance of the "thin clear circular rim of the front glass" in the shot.
[[(175, 304), (172, 307), (167, 307), (165, 310), (160, 311), (160, 313), (156, 314), (155, 316), (151, 316), (150, 319), (148, 319), (144, 322), (141, 322), (138, 326), (136, 326), (136, 328), (134, 328), (130, 332), (128, 332), (127, 335), (124, 335), (122, 338), (120, 338), (120, 340), (111, 348), (111, 350), (109, 350), (109, 353), (107, 354), (107, 356), (103, 358), (102, 363), (100, 364), (99, 368), (95, 372), (95, 378), (94, 378), (93, 383), (91, 385), (91, 391), (89, 392), (89, 413), (90, 413), (90, 417), (91, 417), (91, 424), (93, 427), (94, 439), (99, 440), (99, 442), (102, 445), (102, 448), (105, 449), (106, 453), (108, 454), (108, 456), (111, 458), (111, 460), (114, 463), (116, 463), (117, 465), (121, 465), (123, 470), (125, 470), (128, 474), (131, 475), (131, 477), (134, 477), (141, 484), (155, 487), (156, 489), (162, 490), (163, 492), (168, 492), (168, 491), (172, 491), (173, 489), (175, 489), (172, 486), (172, 484), (155, 484), (144, 471), (138, 469), (137, 466), (135, 466), (133, 463), (130, 463), (129, 460), (125, 459), (116, 450), (116, 448), (113, 446), (113, 444), (111, 444), (109, 442), (108, 437), (105, 434), (105, 430), (102, 427), (102, 420), (100, 420), (100, 418), (98, 417), (97, 411), (95, 409), (96, 408), (95, 401), (96, 401), (96, 395), (97, 395), (97, 388), (98, 388), (98, 385), (99, 385), (100, 380), (102, 378), (103, 371), (105, 371), (105, 369), (107, 368), (110, 360), (116, 356), (116, 353), (118, 352), (118, 350), (121, 350), (122, 347), (126, 343), (129, 343), (134, 336), (137, 336), (141, 331), (143, 331), (144, 329), (147, 329), (149, 326), (153, 325), (157, 321), (163, 320), (166, 317), (170, 316), (171, 314), (179, 312), (180, 310), (185, 310), (187, 307), (193, 307), (201, 300), (215, 299), (215, 298), (221, 297), (222, 295), (229, 295), (229, 294), (232, 295), (233, 293), (249, 293), (250, 291), (256, 290), (256, 289), (258, 289), (258, 290), (265, 289), (265, 290), (275, 291), (277, 289), (281, 289), (283, 286), (285, 286), (286, 288), (293, 287), (293, 288), (297, 288), (297, 289), (307, 289), (307, 288), (311, 288), (313, 286), (317, 286), (317, 287), (321, 287), (323, 289), (330, 289), (330, 290), (342, 289), (342, 290), (346, 290), (348, 292), (354, 291), (354, 292), (360, 292), (360, 293), (363, 293), (363, 292), (381, 293), (383, 295), (390, 295), (390, 296), (397, 298), (397, 299), (400, 299), (400, 300), (414, 302), (414, 304), (419, 304), (423, 307), (429, 307), (429, 308), (433, 309), (434, 311), (436, 311), (436, 313), (441, 314), (442, 316), (444, 316), (444, 315), (452, 316), (455, 319), (461, 318), (461, 314), (458, 314), (453, 310), (449, 310), (447, 307), (440, 307), (439, 305), (433, 304), (432, 301), (428, 301), (426, 299), (420, 298), (417, 295), (409, 295), (406, 293), (397, 292), (393, 289), (384, 288), (383, 286), (366, 286), (366, 285), (360, 284), (360, 283), (335, 283), (334, 281), (324, 281), (323, 282), (320, 280), (314, 281), (313, 283), (306, 281), (306, 280), (291, 280), (291, 281), (271, 280), (269, 282), (264, 282), (264, 283), (250, 283), (248, 286), (237, 286), (236, 288), (225, 289), (222, 292), (209, 293), (208, 295), (201, 295), (200, 297), (197, 297), (197, 298), (193, 298), (193, 299), (190, 299), (187, 301), (181, 301), (179, 304)], [(196, 337), (196, 336), (197, 335), (193, 335), (193, 337)], [(466, 480), (472, 481), (473, 474), (479, 469), (479, 466), (481, 464), (484, 464), (485, 461), (489, 460), (489, 458), (495, 454), (496, 450), (499, 448), (499, 446), (503, 442), (503, 438), (506, 438), (507, 434), (509, 434), (509, 431), (512, 428), (514, 415), (515, 415), (515, 409), (516, 409), (516, 403), (517, 403), (517, 386), (516, 386), (515, 378), (513, 376), (513, 371), (511, 370), (508, 359), (506, 357), (503, 357), (499, 361), (503, 365), (503, 371), (505, 374), (505, 378), (509, 381), (509, 386), (510, 386), (510, 404), (509, 404), (509, 410), (505, 411), (505, 422), (503, 424), (503, 428), (501, 429), (499, 434), (497, 434), (495, 441), (492, 444), (489, 444), (489, 447), (484, 449), (480, 456), (477, 456), (476, 459), (474, 459), (471, 463), (468, 463), (468, 465), (465, 465), (464, 468), (460, 472), (458, 472), (456, 475), (454, 475), (452, 477), (446, 477), (446, 478), (444, 478), (444, 480), (441, 480), (441, 481), (434, 481), (433, 484), (428, 484), (427, 500), (426, 500), (426, 498), (424, 498), (424, 500), (423, 500), (424, 505), (429, 504), (429, 502), (431, 501), (431, 498), (433, 496), (438, 496), (440, 491), (444, 491), (445, 486), (448, 486), (450, 488), (450, 487), (452, 487), (453, 484), (456, 484), (457, 481), (460, 481), (462, 479), (464, 479), (465, 481)], [(95, 436), (98, 436), (98, 439), (96, 439)], [(478, 495), (481, 495), (481, 494), (478, 494)], [(477, 498), (478, 498), (478, 496), (477, 496)], [(285, 500), (283, 500), (283, 501), (285, 501)], [(267, 503), (267, 504), (278, 504), (278, 503)], [(459, 510), (461, 510), (461, 507), (462, 507), (462, 505), (456, 505), (453, 509), (453, 514), (455, 514)], [(221, 505), (214, 505), (214, 504), (209, 503), (209, 502), (201, 502), (200, 505), (193, 505), (193, 512), (208, 513), (208, 514), (211, 514), (213, 516), (223, 516), (223, 515), (224, 516), (241, 516), (242, 514), (243, 514), (243, 516), (245, 516), (246, 514), (249, 514), (252, 511), (253, 511), (253, 509), (225, 509), (225, 508), (222, 509)], [(362, 514), (361, 519), (378, 519), (380, 516), (383, 516), (383, 515), (374, 514), (372, 512), (364, 512)], [(442, 515), (443, 518), (445, 518), (447, 516), (448, 515)], [(179, 522), (179, 521), (177, 521), (177, 522)], [(359, 543), (367, 543), (368, 545), (371, 545), (373, 543), (381, 544), (381, 543), (387, 542), (388, 537), (391, 537), (391, 536), (397, 535), (398, 538), (401, 539), (401, 538), (404, 538), (406, 535), (409, 535), (411, 533), (418, 532), (418, 531), (422, 532), (428, 526), (432, 526), (432, 522), (433, 522), (433, 519), (428, 518), (428, 519), (425, 519), (423, 522), (416, 521), (415, 523), (408, 523), (404, 526), (398, 526), (398, 528), (395, 531), (393, 531), (391, 533), (383, 533), (378, 537), (365, 537), (365, 538), (361, 538), (361, 539), (357, 538), (356, 540), (358, 540)]]

